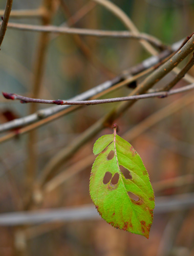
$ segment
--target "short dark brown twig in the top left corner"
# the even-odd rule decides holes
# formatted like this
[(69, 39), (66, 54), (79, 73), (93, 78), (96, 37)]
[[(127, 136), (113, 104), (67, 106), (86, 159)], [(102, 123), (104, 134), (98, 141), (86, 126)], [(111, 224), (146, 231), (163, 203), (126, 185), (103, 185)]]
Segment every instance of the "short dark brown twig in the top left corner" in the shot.
[(5, 8), (4, 16), (2, 19), (1, 28), (0, 28), (0, 47), (2, 45), (6, 30), (7, 30), (12, 3), (13, 3), (13, 0), (7, 0), (6, 8)]

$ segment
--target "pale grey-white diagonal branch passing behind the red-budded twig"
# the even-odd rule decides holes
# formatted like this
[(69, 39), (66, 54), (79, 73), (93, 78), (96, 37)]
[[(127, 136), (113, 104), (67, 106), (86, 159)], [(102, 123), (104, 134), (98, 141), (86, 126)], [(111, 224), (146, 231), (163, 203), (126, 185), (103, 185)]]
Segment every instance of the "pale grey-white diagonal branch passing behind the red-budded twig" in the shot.
[[(182, 44), (182, 40), (176, 42), (175, 44), (173, 44), (171, 46), (171, 49), (173, 49), (174, 51), (177, 51), (180, 48), (180, 45)], [(119, 82), (119, 84), (117, 84), (117, 87), (120, 86), (124, 86), (126, 84), (130, 84), (131, 82), (137, 80), (138, 78), (141, 77), (142, 75), (145, 75), (145, 73), (143, 71), (147, 70), (148, 68), (154, 66), (154, 65), (158, 65), (158, 63), (160, 61), (162, 61), (162, 59), (164, 59), (165, 57), (167, 57), (169, 54), (171, 53), (171, 51), (169, 50), (165, 50), (162, 53), (160, 53), (158, 56), (152, 56), (147, 58), (146, 60), (144, 60), (142, 63), (138, 64), (137, 66), (130, 68), (126, 71), (123, 71), (122, 74), (120, 74), (119, 76), (115, 77), (112, 80), (103, 82), (102, 84), (99, 84), (99, 86), (96, 86), (84, 93), (81, 93), (80, 95), (73, 97), (70, 100), (86, 100), (88, 98), (91, 98), (93, 96), (98, 96), (101, 92), (108, 90), (110, 88), (113, 88), (113, 86), (115, 86), (115, 84), (117, 84)], [(155, 69), (155, 67), (154, 67)], [(134, 75), (134, 76), (133, 76)], [(130, 78), (128, 78), (130, 77)], [(122, 81), (124, 80), (124, 81)], [(121, 82), (122, 81), (122, 82)], [(47, 123), (47, 120), (51, 120), (50, 116), (53, 116), (53, 119), (56, 119), (62, 115), (64, 115), (64, 113), (66, 112), (66, 109), (69, 108), (70, 106), (68, 105), (63, 105), (63, 106), (52, 106), (50, 108), (47, 109), (42, 109), (37, 111), (36, 113), (26, 116), (26, 117), (22, 117), (22, 118), (18, 118), (15, 119), (13, 121), (9, 121), (7, 123), (3, 123), (0, 124), (0, 133), (1, 132), (6, 132), (8, 130), (11, 129), (15, 129), (17, 127), (20, 126), (25, 126), (25, 125), (29, 125), (33, 122), (39, 122), (43, 124)], [(46, 119), (45, 122), (42, 122), (43, 120), (39, 121), (40, 119)], [(31, 126), (32, 127), (32, 126)], [(33, 126), (34, 127), (34, 126)], [(35, 127), (38, 127), (35, 125)], [(30, 127), (29, 127), (30, 130)], [(25, 131), (29, 131), (28, 129)], [(19, 134), (20, 134), (21, 130), (19, 130)], [(15, 134), (12, 134), (12, 136), (15, 136)], [(6, 136), (6, 137), (2, 137), (0, 139), (0, 142), (3, 142), (5, 140), (7, 140), (6, 138), (11, 138), (10, 135)]]

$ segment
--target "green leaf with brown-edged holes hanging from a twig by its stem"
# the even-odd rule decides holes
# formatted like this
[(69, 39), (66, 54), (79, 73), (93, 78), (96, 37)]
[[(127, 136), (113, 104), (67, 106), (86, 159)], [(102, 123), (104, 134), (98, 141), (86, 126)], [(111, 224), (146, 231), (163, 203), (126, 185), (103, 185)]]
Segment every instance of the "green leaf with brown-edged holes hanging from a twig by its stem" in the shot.
[(148, 238), (155, 207), (154, 191), (133, 146), (116, 134), (94, 144), (99, 154), (90, 177), (90, 195), (101, 217), (116, 228)]

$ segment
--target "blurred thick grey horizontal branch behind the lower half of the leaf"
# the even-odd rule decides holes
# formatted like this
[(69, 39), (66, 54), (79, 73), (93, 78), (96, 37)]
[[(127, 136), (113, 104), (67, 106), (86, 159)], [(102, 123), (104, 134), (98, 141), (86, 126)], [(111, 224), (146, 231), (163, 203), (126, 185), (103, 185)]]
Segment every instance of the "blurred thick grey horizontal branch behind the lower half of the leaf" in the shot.
[[(178, 196), (166, 196), (156, 198), (154, 213), (165, 213), (179, 209), (191, 208), (194, 203), (193, 193)], [(100, 219), (93, 204), (78, 207), (67, 207), (59, 209), (33, 210), (9, 212), (0, 214), (1, 226), (14, 226), (26, 224), (40, 224), (42, 222), (54, 221), (75, 221), (75, 220), (94, 220)]]

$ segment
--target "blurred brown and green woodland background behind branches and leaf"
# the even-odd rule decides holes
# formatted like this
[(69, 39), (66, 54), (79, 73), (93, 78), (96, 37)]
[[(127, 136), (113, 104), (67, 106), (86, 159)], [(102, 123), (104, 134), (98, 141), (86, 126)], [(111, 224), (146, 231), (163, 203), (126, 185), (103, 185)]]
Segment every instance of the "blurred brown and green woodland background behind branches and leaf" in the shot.
[[(14, 0), (13, 10), (39, 10), (46, 2), (41, 0)], [(53, 0), (53, 13), (48, 22), (60, 26), (63, 23), (77, 28), (101, 30), (126, 30), (123, 23), (102, 5), (89, 0)], [(133, 21), (140, 32), (171, 45), (186, 38), (194, 29), (193, 0), (114, 0)], [(0, 0), (1, 15), (5, 0)], [(38, 13), (38, 11), (37, 11)], [(77, 16), (75, 16), (76, 14)], [(74, 15), (74, 16), (73, 16)], [(73, 16), (73, 18), (72, 18)], [(71, 18), (70, 18), (71, 17)], [(74, 22), (76, 19), (76, 23)], [(68, 20), (68, 23), (67, 23)], [(40, 15), (31, 17), (10, 16), (10, 22), (41, 25)], [(39, 32), (8, 28), (0, 52), (1, 91), (32, 96), (39, 61)], [(121, 38), (98, 38), (91, 36), (48, 35), (44, 50), (42, 77), (39, 80), (39, 98), (69, 99), (98, 84), (118, 76), (151, 55), (136, 40)], [(40, 52), (41, 52), (40, 51)], [(183, 67), (190, 57), (179, 67)], [(188, 72), (194, 76), (194, 68)], [(167, 84), (174, 78), (170, 73), (156, 87)], [(182, 87), (188, 84), (181, 80)], [(132, 89), (127, 86), (107, 97), (126, 96)], [(193, 192), (194, 119), (193, 99), (177, 94), (164, 99), (139, 100), (116, 120), (119, 135), (123, 136), (141, 156), (155, 190), (155, 197), (182, 198)], [(30, 104), (6, 100), (2, 96), (0, 121), (5, 123), (32, 113)], [(175, 103), (177, 102), (177, 103)], [(36, 194), (36, 203), (28, 201), (28, 182), (36, 183), (46, 164), (62, 148), (71, 144), (92, 124), (111, 111), (118, 103), (84, 106), (36, 129), (33, 141), (35, 160), (29, 148), (29, 134), (18, 135), (4, 141), (0, 147), (0, 211), (1, 214), (23, 210), (81, 207), (92, 204), (89, 194), (89, 179), (94, 142), (104, 134), (103, 129), (82, 145), (79, 150), (60, 165), (57, 173), (67, 177), (54, 188)], [(172, 105), (174, 104), (174, 105)], [(181, 107), (180, 107), (181, 105)], [(169, 106), (169, 107), (168, 107)], [(37, 109), (48, 105), (36, 105)], [(172, 110), (173, 108), (173, 110)], [(162, 111), (162, 112), (157, 112)], [(156, 116), (161, 115), (159, 120)], [(149, 120), (149, 117), (153, 120)], [(143, 123), (144, 120), (148, 121)], [(138, 128), (140, 126), (140, 128)], [(136, 131), (136, 127), (138, 130)], [(133, 131), (132, 131), (133, 129)], [(3, 133), (6, 136), (10, 132)], [(34, 154), (34, 152), (32, 154)], [(90, 158), (89, 158), (90, 156)], [(30, 160), (29, 160), (30, 159)], [(87, 163), (82, 159), (87, 159)], [(28, 166), (33, 163), (34, 173), (29, 181)], [(76, 166), (80, 163), (80, 166)], [(53, 178), (53, 177), (51, 177)], [(32, 181), (33, 179), (33, 181)], [(46, 183), (47, 184), (47, 183)], [(27, 196), (27, 199), (26, 199)], [(188, 198), (187, 198), (188, 201)], [(165, 206), (164, 206), (165, 208)], [(76, 208), (75, 208), (76, 209)], [(0, 215), (1, 217), (1, 215)], [(1, 218), (0, 218), (1, 219)], [(55, 221), (28, 225), (1, 225), (0, 255), (69, 255), (69, 256), (154, 256), (194, 254), (194, 224), (191, 203), (179, 209), (158, 210), (154, 216), (149, 240), (136, 234), (118, 230), (97, 217), (75, 221)]]

